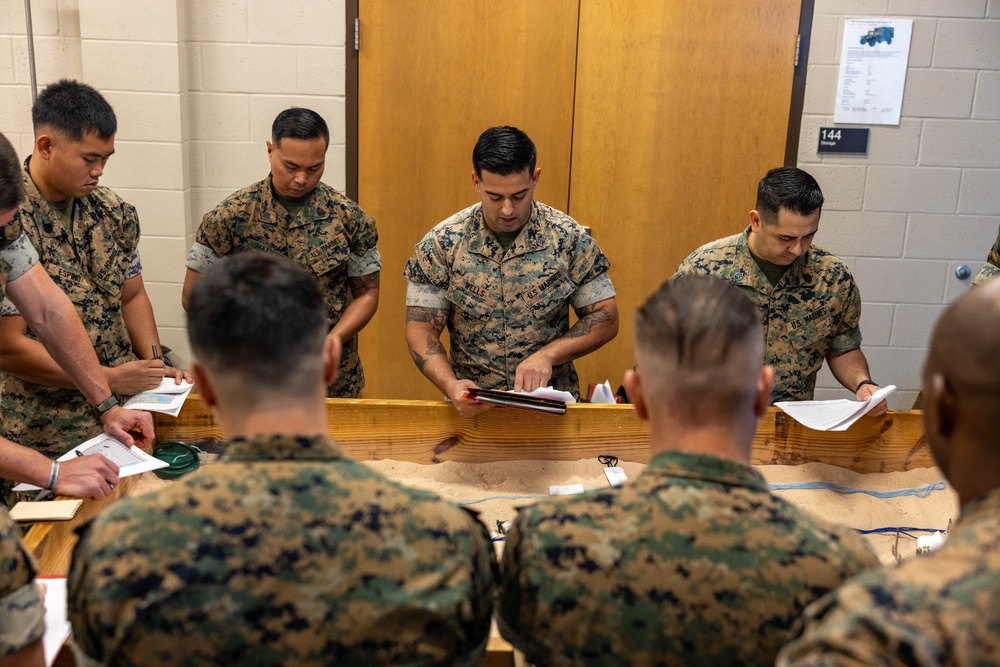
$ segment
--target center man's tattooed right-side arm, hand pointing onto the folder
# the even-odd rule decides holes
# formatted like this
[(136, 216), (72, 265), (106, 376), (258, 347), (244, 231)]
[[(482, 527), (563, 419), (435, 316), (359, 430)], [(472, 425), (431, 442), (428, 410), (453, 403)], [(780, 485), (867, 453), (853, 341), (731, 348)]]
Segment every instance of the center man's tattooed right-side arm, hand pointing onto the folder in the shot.
[(618, 334), (618, 303), (614, 297), (584, 306), (579, 319), (566, 335), (557, 338), (522, 361), (514, 377), (514, 391), (534, 391), (546, 387), (552, 367), (579, 359), (601, 347)]

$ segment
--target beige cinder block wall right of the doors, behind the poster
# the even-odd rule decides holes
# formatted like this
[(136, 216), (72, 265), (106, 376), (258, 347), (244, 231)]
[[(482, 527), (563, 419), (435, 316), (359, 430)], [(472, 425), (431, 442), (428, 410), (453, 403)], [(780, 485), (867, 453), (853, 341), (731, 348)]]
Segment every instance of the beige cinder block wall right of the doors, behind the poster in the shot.
[[(833, 126), (847, 18), (912, 18), (898, 127), (871, 126), (866, 156), (818, 156)], [(931, 329), (972, 284), (1000, 226), (1000, 0), (816, 0), (799, 166), (823, 188), (817, 245), (854, 272), (872, 376), (913, 405)], [(850, 126), (844, 126), (850, 127)], [(824, 368), (817, 398), (847, 396)]]

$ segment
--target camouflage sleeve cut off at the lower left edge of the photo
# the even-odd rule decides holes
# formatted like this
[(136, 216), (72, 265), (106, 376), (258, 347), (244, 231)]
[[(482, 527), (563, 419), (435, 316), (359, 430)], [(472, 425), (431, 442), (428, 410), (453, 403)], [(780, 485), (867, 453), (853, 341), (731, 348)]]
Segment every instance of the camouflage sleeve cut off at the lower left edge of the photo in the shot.
[(35, 574), (35, 559), (21, 542), (21, 529), (0, 506), (0, 657), (20, 651), (45, 631)]

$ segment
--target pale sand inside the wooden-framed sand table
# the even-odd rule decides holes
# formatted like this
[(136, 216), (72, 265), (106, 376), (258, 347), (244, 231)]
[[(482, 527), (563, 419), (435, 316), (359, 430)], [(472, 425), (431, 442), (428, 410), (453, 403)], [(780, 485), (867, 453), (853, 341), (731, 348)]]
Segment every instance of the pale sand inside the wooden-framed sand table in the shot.
[[(583, 484), (585, 488), (606, 488), (607, 478), (597, 460), (588, 461), (504, 461), (496, 463), (455, 463), (422, 465), (401, 461), (365, 461), (366, 465), (387, 477), (409, 486), (432, 491), (442, 498), (455, 501), (482, 500), (468, 507), (479, 512), (480, 518), (496, 530), (497, 521), (507, 521), (516, 508), (535, 501), (539, 494), (548, 494), (550, 484)], [(645, 468), (639, 463), (620, 464), (629, 479)], [(873, 491), (897, 491), (923, 487), (944, 477), (937, 468), (917, 468), (909, 472), (859, 474), (844, 468), (821, 463), (800, 466), (759, 466), (758, 470), (771, 484), (827, 482), (840, 486)], [(858, 529), (885, 526), (944, 529), (948, 520), (957, 517), (958, 500), (949, 487), (932, 491), (926, 497), (903, 496), (876, 498), (871, 495), (842, 494), (827, 490), (776, 491), (781, 497), (821, 516)], [(494, 496), (504, 496), (493, 498)], [(511, 497), (515, 496), (515, 497)], [(488, 500), (484, 500), (490, 498)], [(914, 536), (927, 533), (912, 533)], [(872, 547), (884, 563), (891, 563), (896, 534), (868, 536)], [(912, 557), (916, 542), (906, 536), (899, 538), (899, 553)]]

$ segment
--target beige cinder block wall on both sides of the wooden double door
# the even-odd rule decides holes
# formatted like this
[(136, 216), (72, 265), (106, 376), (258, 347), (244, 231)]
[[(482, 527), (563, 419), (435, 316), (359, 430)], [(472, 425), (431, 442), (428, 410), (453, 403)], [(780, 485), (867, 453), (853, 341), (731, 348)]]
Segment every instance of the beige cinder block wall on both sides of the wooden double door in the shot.
[[(344, 0), (33, 0), (39, 86), (102, 90), (119, 116), (103, 182), (142, 220), (161, 336), (187, 357), (180, 286), (201, 215), (267, 173), (275, 113), (310, 106), (332, 132), (325, 181), (345, 185)], [(819, 157), (845, 18), (914, 19), (903, 117), (862, 157)], [(31, 149), (23, 0), (0, 0), (0, 131)], [(799, 163), (827, 194), (817, 242), (854, 270), (873, 374), (912, 403), (934, 319), (982, 266), (1000, 225), (1000, 0), (816, 0)], [(363, 204), (363, 202), (362, 202)], [(380, 220), (383, 234), (391, 221)], [(386, 276), (387, 280), (396, 279)], [(383, 305), (386, 307), (386, 305)], [(402, 339), (401, 339), (402, 340)], [(842, 397), (828, 373), (818, 397)]]

